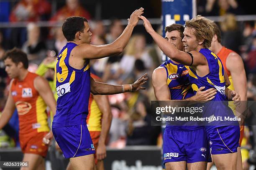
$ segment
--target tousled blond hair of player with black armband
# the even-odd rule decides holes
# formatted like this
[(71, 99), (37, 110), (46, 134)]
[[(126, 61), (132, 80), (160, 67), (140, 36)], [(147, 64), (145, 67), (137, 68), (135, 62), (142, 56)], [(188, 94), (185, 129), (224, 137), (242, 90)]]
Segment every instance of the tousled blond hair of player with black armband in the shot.
[(205, 48), (210, 48), (212, 36), (214, 34), (214, 27), (211, 20), (201, 15), (197, 15), (191, 20), (187, 20), (185, 26), (188, 28), (194, 28), (197, 40), (204, 39), (203, 45)]

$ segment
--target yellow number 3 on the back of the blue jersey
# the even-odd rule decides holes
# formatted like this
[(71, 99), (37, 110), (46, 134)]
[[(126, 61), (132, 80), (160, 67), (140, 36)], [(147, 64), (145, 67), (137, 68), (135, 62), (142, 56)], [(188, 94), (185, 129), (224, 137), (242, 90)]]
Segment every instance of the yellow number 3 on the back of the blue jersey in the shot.
[[(60, 71), (58, 71), (58, 73), (56, 73), (56, 76), (57, 76), (57, 80), (60, 83), (67, 79), (67, 76), (69, 73), (68, 68), (64, 62), (66, 57), (67, 57), (67, 48), (61, 54), (59, 54), (59, 56), (57, 57), (58, 62), (56, 64), (56, 66), (59, 66), (61, 68), (61, 74), (60, 74)], [(55, 71), (57, 71), (57, 69), (55, 69)]]

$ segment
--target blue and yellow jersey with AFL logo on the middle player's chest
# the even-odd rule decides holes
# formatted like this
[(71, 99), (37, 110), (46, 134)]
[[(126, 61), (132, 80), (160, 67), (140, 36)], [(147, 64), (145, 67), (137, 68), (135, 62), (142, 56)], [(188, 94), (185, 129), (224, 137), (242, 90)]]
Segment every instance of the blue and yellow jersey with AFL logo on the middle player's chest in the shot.
[[(182, 100), (194, 96), (194, 92), (189, 83), (189, 67), (183, 64), (176, 64), (168, 60), (160, 65), (164, 67), (167, 74), (167, 84), (172, 100)], [(189, 131), (200, 129), (202, 126), (171, 126), (166, 124), (166, 128)]]

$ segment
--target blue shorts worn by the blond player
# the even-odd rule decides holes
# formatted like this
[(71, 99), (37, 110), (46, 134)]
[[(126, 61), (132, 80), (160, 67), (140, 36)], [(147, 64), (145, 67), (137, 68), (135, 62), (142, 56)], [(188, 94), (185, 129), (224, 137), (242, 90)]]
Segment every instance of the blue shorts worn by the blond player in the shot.
[(237, 152), (240, 138), (239, 126), (216, 127), (207, 134), (212, 155)]

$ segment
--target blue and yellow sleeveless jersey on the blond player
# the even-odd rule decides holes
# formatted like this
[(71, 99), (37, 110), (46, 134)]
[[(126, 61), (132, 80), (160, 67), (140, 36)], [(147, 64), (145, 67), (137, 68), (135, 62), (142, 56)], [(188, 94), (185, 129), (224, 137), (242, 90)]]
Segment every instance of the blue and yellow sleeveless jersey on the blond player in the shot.
[[(212, 99), (213, 102), (207, 102), (206, 106), (204, 106), (203, 117), (234, 117), (233, 111), (228, 107), (227, 97), (225, 96), (224, 67), (220, 58), (207, 48), (202, 48), (199, 52), (207, 59), (210, 72), (206, 76), (200, 77), (197, 75), (196, 71), (190, 68), (189, 81), (192, 89), (194, 93), (196, 93), (201, 86), (205, 86), (205, 90), (212, 87), (217, 89), (217, 94), (215, 98)], [(216, 127), (228, 125), (227, 122), (222, 123), (223, 124), (220, 124), (220, 122), (217, 121), (207, 122), (205, 129), (210, 131)]]

